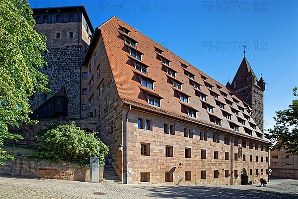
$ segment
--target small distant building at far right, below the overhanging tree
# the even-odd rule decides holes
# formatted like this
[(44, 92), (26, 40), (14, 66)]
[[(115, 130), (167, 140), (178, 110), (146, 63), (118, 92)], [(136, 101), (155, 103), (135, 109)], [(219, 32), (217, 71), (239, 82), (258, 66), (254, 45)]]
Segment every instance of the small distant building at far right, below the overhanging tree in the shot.
[(298, 179), (298, 155), (288, 153), (287, 148), (275, 149), (270, 155), (271, 176)]

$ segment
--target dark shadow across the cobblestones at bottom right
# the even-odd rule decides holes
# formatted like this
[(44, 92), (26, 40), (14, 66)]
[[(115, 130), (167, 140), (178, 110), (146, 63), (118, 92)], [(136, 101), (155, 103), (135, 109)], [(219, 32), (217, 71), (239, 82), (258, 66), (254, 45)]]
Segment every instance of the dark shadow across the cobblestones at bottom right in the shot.
[(144, 186), (138, 187), (137, 189), (144, 190), (144, 193), (149, 192), (149, 197), (166, 199), (298, 199), (298, 195), (268, 191), (266, 188), (261, 188), (261, 190), (257, 188), (251, 190), (237, 190), (204, 186)]

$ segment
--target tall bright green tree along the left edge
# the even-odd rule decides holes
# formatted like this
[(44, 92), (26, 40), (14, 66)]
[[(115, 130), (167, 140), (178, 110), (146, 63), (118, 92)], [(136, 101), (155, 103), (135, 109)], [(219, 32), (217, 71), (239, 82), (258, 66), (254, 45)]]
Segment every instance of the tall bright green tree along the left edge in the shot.
[(47, 76), (38, 71), (46, 65), (46, 37), (33, 29), (32, 13), (27, 0), (0, 1), (0, 164), (13, 159), (3, 153), (3, 140), (22, 138), (8, 126), (36, 122), (28, 117), (29, 99), (36, 91), (50, 93)]

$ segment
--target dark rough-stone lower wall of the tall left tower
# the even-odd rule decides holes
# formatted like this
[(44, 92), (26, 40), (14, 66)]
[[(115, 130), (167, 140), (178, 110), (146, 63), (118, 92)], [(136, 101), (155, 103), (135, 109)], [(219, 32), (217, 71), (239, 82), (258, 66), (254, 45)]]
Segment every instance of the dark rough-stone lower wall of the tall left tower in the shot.
[[(65, 46), (61, 48), (49, 48), (45, 55), (48, 66), (41, 72), (48, 75), (50, 88), (53, 94), (57, 93), (65, 85), (68, 102), (68, 116), (78, 118), (80, 112), (80, 66), (83, 61), (82, 46)], [(31, 109), (35, 110), (51, 96), (36, 93), (31, 100)]]

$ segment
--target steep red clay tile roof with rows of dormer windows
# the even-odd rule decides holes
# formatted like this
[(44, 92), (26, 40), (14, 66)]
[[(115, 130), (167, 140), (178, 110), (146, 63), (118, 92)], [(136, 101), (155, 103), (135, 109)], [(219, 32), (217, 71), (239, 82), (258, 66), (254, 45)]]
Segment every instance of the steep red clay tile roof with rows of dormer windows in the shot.
[[(142, 52), (142, 61), (136, 60), (135, 58), (132, 58), (129, 54), (129, 51), (124, 50), (126, 44), (124, 44), (124, 40), (121, 36), (122, 28), (125, 27), (130, 31), (129, 37), (131, 37), (133, 40), (137, 41), (136, 49), (138, 51)], [(155, 111), (156, 113), (162, 113), (165, 115), (175, 116), (178, 118), (183, 118), (185, 120), (189, 120), (192, 122), (196, 122), (198, 124), (202, 124), (205, 126), (210, 126), (216, 129), (224, 130), (226, 132), (232, 132), (235, 134), (240, 134), (243, 136), (249, 136), (247, 133), (245, 133), (244, 126), (240, 124), (237, 120), (237, 117), (240, 117), (241, 119), (247, 121), (245, 117), (242, 114), (239, 114), (239, 116), (235, 116), (234, 113), (231, 111), (231, 107), (229, 105), (225, 105), (226, 112), (230, 113), (231, 120), (226, 119), (224, 117), (222, 109), (217, 105), (216, 100), (213, 96), (210, 95), (208, 87), (205, 86), (205, 82), (213, 86), (213, 92), (218, 94), (218, 101), (221, 101), (225, 104), (225, 98), (221, 94), (221, 91), (227, 94), (226, 99), (233, 102), (232, 107), (236, 110), (238, 110), (237, 104), (233, 101), (233, 98), (239, 101), (239, 104), (241, 107), (246, 107), (244, 104), (246, 103), (243, 98), (240, 97), (237, 93), (233, 91), (229, 91), (224, 85), (217, 82), (216, 80), (212, 79), (207, 74), (203, 73), (196, 67), (192, 66), (185, 60), (181, 59), (171, 51), (167, 50), (163, 46), (159, 45), (158, 43), (154, 42), (141, 32), (139, 32), (137, 29), (133, 28), (132, 26), (128, 25), (127, 23), (123, 22), (117, 17), (112, 17), (110, 20), (106, 21), (104, 24), (98, 27), (98, 31), (101, 33), (104, 46), (107, 52), (108, 60), (111, 66), (111, 71), (115, 80), (115, 84), (117, 87), (117, 91), (119, 94), (119, 97), (128, 104), (133, 104), (134, 106), (144, 108), (144, 109), (150, 109), (152, 111)], [(123, 33), (124, 34), (124, 33)], [(119, 46), (119, 47), (115, 47)], [(159, 60), (160, 56), (158, 53), (156, 53), (155, 48), (158, 48), (163, 51), (162, 57), (166, 58), (170, 61), (170, 65), (167, 66), (174, 71), (176, 71), (176, 77), (173, 78), (169, 76), (165, 71), (162, 70), (163, 64), (161, 64), (161, 61)], [(133, 49), (133, 47), (132, 47)], [(150, 77), (150, 79), (155, 80), (154, 82), (154, 90), (148, 91), (148, 88), (142, 88), (140, 85), (140, 82), (138, 82), (138, 78), (135, 78), (136, 75), (142, 74), (136, 74), (136, 70), (134, 69), (133, 62), (140, 62), (144, 63), (147, 68), (147, 75)], [(244, 60), (246, 64), (246, 59)], [(130, 64), (131, 63), (131, 64)], [(185, 70), (182, 67), (182, 63), (187, 66), (187, 70)], [(242, 63), (241, 63), (242, 64)], [(248, 64), (248, 63), (247, 63)], [(246, 64), (246, 65), (247, 65)], [(194, 80), (187, 77), (187, 75), (184, 73), (184, 71), (190, 72), (193, 74)], [(248, 68), (247, 68), (247, 72)], [(147, 76), (143, 75), (143, 76)], [(202, 79), (203, 77), (206, 77), (206, 80)], [(169, 79), (170, 78), (170, 79)], [(189, 117), (187, 113), (184, 113), (181, 111), (181, 106), (184, 104), (184, 102), (181, 102), (180, 99), (176, 96), (177, 93), (175, 89), (173, 89), (172, 81), (171, 79), (176, 79), (179, 82), (183, 83), (183, 93), (190, 96), (189, 98), (189, 107), (192, 107), (194, 110), (197, 110), (197, 118)], [(194, 87), (190, 84), (191, 81), (194, 81), (201, 85), (200, 90), (194, 89)], [(138, 86), (136, 86), (138, 85)], [(221, 90), (218, 88), (218, 86), (221, 87)], [(147, 91), (146, 91), (147, 90)], [(202, 101), (200, 100), (199, 96), (196, 96), (195, 91), (199, 91), (201, 93), (204, 93), (207, 96), (207, 104), (210, 104), (214, 106), (213, 114), (216, 117), (222, 119), (222, 126), (215, 125), (215, 123), (210, 121), (209, 113), (207, 110), (202, 106)], [(145, 91), (145, 92), (141, 92)], [(148, 99), (146, 96), (146, 93), (154, 94), (155, 96), (160, 96), (163, 99), (161, 99), (161, 107), (155, 107), (148, 103)], [(250, 115), (247, 109), (244, 110), (246, 115)], [(239, 111), (241, 112), (241, 111)], [(239, 132), (234, 131), (230, 128), (228, 123), (232, 121), (233, 123), (239, 125)], [(255, 122), (250, 118), (250, 123), (255, 124)], [(248, 122), (245, 122), (246, 128), (251, 128), (249, 126)], [(254, 129), (254, 131), (258, 133), (262, 133), (261, 130), (257, 127)], [(253, 139), (257, 139), (260, 141), (266, 141), (265, 138), (261, 139), (256, 136), (254, 133), (253, 136), (249, 136)]]

